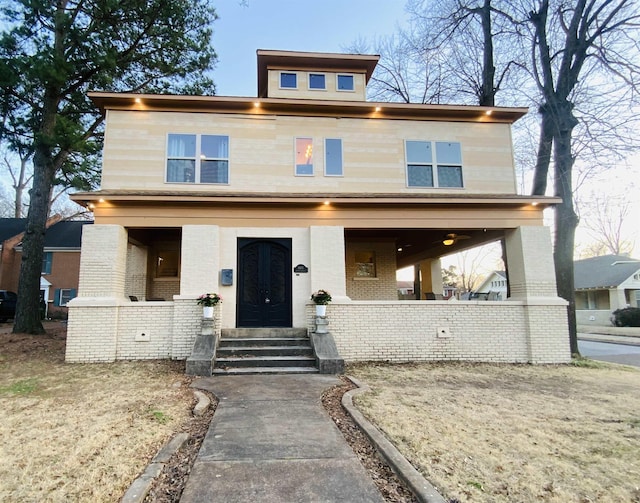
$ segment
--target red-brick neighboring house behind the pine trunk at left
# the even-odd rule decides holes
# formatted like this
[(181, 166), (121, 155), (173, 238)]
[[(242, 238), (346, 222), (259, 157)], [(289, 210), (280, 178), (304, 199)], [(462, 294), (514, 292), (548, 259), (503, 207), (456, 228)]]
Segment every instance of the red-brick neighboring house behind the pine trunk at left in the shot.
[[(48, 316), (66, 316), (67, 303), (76, 296), (82, 228), (90, 223), (49, 219), (40, 278), (40, 293), (46, 300)], [(25, 226), (26, 218), (0, 219), (0, 290), (18, 291)]]

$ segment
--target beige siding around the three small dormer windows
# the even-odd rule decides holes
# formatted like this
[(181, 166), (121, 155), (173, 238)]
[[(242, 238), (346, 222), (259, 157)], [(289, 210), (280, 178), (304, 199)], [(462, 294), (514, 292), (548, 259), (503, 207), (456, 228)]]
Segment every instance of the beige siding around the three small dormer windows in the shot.
[[(281, 89), (280, 73), (295, 73), (298, 76), (297, 89)], [(326, 89), (309, 89), (309, 74), (321, 73), (325, 75)], [(338, 91), (337, 76), (353, 75), (353, 91)], [(366, 101), (367, 89), (364, 73), (352, 72), (326, 72), (306, 70), (269, 70), (269, 98), (295, 98), (311, 100), (337, 100), (337, 101)]]

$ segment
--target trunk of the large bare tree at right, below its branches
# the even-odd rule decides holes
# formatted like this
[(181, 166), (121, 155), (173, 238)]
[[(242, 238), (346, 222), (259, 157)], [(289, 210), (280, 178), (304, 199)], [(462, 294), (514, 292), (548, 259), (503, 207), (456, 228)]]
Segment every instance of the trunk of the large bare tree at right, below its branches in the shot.
[(553, 137), (555, 156), (555, 195), (562, 203), (555, 208), (555, 247), (553, 261), (556, 269), (558, 295), (569, 302), (567, 307), (569, 322), (569, 343), (571, 354), (579, 354), (576, 323), (575, 282), (573, 275), (573, 251), (578, 216), (573, 207), (571, 135), (578, 121), (573, 116), (570, 103), (557, 107), (558, 129)]

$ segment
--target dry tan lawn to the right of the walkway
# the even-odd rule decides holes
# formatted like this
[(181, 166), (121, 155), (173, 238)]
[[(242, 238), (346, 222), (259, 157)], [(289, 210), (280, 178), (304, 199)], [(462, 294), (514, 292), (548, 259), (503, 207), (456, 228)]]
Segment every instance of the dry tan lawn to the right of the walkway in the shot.
[(640, 371), (367, 364), (360, 409), (451, 501), (640, 502)]

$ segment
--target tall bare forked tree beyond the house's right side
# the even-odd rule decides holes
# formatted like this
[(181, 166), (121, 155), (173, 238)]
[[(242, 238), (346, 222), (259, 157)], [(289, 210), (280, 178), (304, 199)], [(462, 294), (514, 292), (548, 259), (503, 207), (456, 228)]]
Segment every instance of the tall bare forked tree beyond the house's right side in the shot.
[[(555, 209), (554, 263), (558, 294), (569, 302), (571, 352), (578, 353), (575, 318), (573, 251), (578, 216), (574, 209), (574, 129), (580, 124), (576, 104), (593, 89), (585, 79), (599, 78), (598, 94), (607, 82), (624, 85), (607, 98), (622, 103), (635, 98), (640, 77), (637, 40), (640, 14), (631, 0), (578, 0), (575, 3), (538, 0), (529, 11), (532, 26), (531, 68), (541, 100), (540, 143), (534, 194), (546, 192), (553, 148)], [(607, 80), (604, 80), (607, 79)]]

